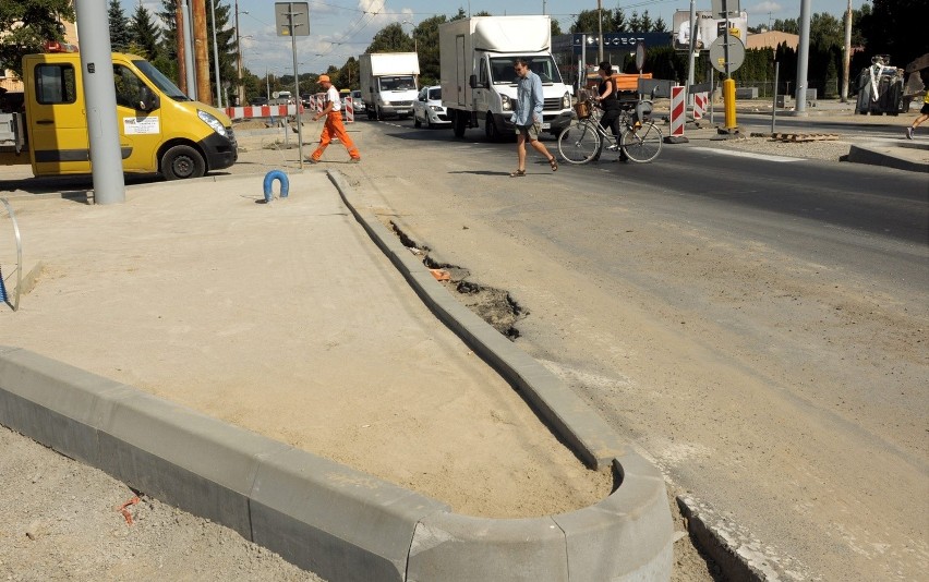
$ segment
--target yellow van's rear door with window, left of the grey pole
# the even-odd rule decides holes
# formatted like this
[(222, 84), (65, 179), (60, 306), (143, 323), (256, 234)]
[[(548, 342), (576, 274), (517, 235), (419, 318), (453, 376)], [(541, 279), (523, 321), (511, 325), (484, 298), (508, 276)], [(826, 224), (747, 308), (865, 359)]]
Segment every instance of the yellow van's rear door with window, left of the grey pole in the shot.
[[(35, 64), (33, 64), (35, 63)], [(35, 175), (91, 172), (91, 148), (79, 71), (70, 62), (32, 61), (26, 123)]]

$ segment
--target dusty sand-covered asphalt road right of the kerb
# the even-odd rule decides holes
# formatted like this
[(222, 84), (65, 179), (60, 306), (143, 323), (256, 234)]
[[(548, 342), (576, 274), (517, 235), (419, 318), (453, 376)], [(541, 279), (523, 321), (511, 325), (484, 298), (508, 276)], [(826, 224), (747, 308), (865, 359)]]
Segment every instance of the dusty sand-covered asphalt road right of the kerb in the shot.
[[(929, 568), (929, 189), (869, 166), (665, 146), (530, 157), (358, 126), (367, 203), (529, 315), (523, 349), (783, 570)], [(546, 140), (554, 147), (552, 140)], [(337, 159), (337, 156), (334, 156)]]

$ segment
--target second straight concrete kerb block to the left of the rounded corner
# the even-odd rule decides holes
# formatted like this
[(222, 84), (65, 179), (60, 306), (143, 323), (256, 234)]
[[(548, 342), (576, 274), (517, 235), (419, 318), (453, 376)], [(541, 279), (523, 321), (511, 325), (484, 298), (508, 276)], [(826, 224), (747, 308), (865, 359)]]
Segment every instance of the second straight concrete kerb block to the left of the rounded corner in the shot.
[(261, 458), (289, 447), (138, 390), (113, 400), (98, 466), (251, 539), (249, 493)]

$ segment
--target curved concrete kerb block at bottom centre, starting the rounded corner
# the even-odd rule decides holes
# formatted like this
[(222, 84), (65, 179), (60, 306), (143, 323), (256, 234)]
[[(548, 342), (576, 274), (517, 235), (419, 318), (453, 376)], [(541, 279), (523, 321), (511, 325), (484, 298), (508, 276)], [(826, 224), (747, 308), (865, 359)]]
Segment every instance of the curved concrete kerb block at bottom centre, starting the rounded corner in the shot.
[(567, 582), (567, 559), (565, 534), (551, 518), (492, 520), (438, 513), (417, 528), (407, 582)]

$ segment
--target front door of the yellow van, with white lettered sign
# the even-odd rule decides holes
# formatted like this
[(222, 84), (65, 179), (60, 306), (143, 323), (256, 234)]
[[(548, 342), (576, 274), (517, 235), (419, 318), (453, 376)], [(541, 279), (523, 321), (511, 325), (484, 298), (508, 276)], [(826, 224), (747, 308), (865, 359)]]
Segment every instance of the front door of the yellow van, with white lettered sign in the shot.
[(113, 84), (122, 168), (128, 172), (157, 172), (161, 111), (146, 111), (143, 102), (150, 102), (150, 96), (158, 95), (158, 92), (140, 78), (135, 71), (121, 63), (113, 63)]

